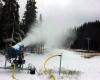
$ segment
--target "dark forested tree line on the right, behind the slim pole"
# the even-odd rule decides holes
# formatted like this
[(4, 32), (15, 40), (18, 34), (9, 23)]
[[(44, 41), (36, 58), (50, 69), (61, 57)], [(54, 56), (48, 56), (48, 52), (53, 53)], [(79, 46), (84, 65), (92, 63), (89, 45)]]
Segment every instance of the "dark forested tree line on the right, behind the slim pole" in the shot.
[(71, 48), (100, 51), (100, 21), (84, 23), (73, 30), (76, 34)]

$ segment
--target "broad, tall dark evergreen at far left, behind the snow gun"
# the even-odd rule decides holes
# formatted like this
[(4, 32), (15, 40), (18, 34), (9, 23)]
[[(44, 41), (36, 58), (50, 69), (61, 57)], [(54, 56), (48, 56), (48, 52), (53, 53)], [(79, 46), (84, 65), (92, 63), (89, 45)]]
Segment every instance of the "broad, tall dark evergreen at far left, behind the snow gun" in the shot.
[(18, 2), (16, 0), (3, 0), (3, 2), (4, 6), (2, 8), (1, 16), (2, 39), (16, 39), (16, 37), (18, 38), (18, 34), (15, 32), (20, 33)]

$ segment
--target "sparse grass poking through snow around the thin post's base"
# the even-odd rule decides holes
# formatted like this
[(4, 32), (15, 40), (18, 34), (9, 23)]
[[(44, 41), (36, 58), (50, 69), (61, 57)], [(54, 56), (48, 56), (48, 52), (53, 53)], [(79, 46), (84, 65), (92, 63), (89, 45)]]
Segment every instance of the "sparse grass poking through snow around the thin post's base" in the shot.
[[(48, 69), (48, 70), (44, 70), (43, 71), (43, 74), (44, 75), (48, 75), (49, 78), (52, 78), (54, 77), (55, 75), (59, 75), (59, 71), (56, 71), (56, 70), (53, 70), (53, 69)], [(76, 79), (80, 76), (81, 72), (80, 71), (77, 71), (77, 70), (69, 70), (69, 69), (65, 69), (65, 68), (62, 68), (61, 69), (61, 75), (64, 77), (64, 78), (70, 78), (70, 79)]]

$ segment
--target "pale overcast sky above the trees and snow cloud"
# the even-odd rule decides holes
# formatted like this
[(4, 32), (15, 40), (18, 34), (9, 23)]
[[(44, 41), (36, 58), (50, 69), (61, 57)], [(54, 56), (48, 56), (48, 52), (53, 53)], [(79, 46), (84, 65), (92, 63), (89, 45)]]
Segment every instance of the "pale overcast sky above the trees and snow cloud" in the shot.
[[(27, 0), (19, 0), (23, 15)], [(100, 0), (36, 0), (38, 14), (49, 22), (80, 25), (86, 21), (100, 20)]]

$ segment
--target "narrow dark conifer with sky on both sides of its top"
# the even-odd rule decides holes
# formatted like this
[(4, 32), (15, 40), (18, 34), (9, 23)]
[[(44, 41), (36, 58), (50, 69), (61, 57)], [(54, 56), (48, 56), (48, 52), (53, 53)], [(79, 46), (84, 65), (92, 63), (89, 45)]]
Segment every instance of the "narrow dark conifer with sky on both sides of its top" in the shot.
[(21, 28), (27, 33), (32, 24), (36, 22), (36, 2), (35, 0), (27, 0), (26, 11), (24, 13)]

